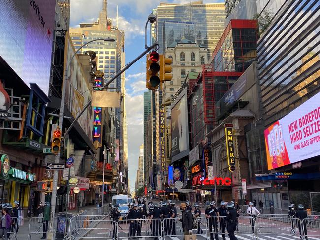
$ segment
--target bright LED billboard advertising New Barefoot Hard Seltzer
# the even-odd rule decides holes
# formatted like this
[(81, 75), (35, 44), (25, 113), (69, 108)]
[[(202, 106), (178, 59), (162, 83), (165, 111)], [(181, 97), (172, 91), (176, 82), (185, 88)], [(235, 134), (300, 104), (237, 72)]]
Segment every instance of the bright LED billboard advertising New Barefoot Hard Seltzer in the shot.
[(268, 169), (320, 155), (320, 93), (264, 130)]

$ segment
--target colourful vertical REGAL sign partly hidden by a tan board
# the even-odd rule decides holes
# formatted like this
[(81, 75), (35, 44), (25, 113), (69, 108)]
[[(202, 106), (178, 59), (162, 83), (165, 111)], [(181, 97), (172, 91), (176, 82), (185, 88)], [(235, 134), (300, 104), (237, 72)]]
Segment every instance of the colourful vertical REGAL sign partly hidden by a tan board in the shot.
[[(100, 91), (103, 87), (103, 78), (95, 78), (95, 90)], [(93, 128), (93, 141), (95, 148), (98, 149), (102, 146), (102, 107), (94, 107), (94, 128)]]

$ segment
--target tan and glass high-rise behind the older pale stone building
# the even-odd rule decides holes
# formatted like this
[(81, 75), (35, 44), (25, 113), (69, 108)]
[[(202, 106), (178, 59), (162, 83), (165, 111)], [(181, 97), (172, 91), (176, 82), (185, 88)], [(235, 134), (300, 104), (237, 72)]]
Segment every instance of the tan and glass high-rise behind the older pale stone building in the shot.
[(155, 35), (161, 54), (174, 40), (186, 38), (208, 49), (209, 59), (224, 31), (224, 3), (160, 3), (156, 14)]

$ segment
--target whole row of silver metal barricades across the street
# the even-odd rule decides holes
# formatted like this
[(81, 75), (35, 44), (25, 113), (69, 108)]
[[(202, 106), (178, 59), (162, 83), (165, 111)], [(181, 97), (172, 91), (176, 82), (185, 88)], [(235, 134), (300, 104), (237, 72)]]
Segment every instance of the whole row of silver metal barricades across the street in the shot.
[[(194, 218), (192, 222), (192, 234), (203, 237), (217, 238), (228, 234), (231, 225), (223, 216), (211, 216), (210, 218)], [(234, 223), (231, 223), (234, 224)], [(10, 230), (11, 239), (14, 239), (16, 226)], [(306, 237), (320, 236), (320, 219), (292, 218), (283, 214), (259, 214), (256, 218), (251, 216), (239, 216), (235, 235), (252, 236), (259, 239), (263, 235), (292, 236), (306, 239)], [(48, 221), (42, 217), (32, 217), (29, 222), (28, 239), (32, 235), (43, 234), (48, 227)], [(230, 230), (232, 231), (232, 230)], [(136, 219), (112, 221), (110, 216), (104, 215), (78, 215), (70, 218), (55, 218), (54, 239), (133, 239), (136, 237), (165, 239), (167, 236), (183, 236), (182, 222), (177, 218), (169, 219)], [(263, 237), (262, 237), (263, 238)]]

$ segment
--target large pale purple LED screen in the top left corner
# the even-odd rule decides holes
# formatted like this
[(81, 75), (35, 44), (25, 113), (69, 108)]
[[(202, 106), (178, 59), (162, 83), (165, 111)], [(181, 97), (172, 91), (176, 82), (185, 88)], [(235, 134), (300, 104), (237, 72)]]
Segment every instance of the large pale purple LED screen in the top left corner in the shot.
[(56, 0), (0, 1), (0, 56), (48, 94)]

